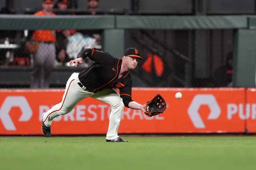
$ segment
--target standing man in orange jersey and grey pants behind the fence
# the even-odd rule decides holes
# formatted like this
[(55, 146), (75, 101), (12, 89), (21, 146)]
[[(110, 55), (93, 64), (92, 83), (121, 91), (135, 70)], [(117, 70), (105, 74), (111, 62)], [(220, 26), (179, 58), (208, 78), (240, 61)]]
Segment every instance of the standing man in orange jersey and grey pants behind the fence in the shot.
[[(54, 16), (52, 12), (54, 1), (43, 0), (42, 11), (36, 12), (34, 15)], [(31, 33), (29, 33), (31, 35)], [(31, 38), (28, 35), (27, 39)], [(26, 47), (33, 55), (33, 72), (31, 77), (31, 88), (49, 88), (50, 76), (54, 66), (55, 42), (56, 36), (54, 30), (35, 30), (32, 34), (32, 41), (38, 47), (34, 47), (31, 41), (26, 42)]]

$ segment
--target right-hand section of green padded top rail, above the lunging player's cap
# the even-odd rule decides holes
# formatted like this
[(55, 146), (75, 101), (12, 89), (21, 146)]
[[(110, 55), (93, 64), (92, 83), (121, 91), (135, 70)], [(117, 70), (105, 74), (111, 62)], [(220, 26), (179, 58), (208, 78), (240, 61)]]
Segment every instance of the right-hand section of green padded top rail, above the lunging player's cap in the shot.
[(124, 29), (228, 29), (247, 28), (240, 16), (117, 16), (116, 27)]

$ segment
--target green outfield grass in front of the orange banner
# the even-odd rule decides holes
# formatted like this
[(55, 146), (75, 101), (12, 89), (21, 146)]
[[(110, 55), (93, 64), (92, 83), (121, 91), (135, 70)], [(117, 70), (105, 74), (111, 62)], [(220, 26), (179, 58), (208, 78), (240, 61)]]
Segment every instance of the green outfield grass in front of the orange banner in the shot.
[(0, 137), (1, 170), (255, 170), (255, 136)]

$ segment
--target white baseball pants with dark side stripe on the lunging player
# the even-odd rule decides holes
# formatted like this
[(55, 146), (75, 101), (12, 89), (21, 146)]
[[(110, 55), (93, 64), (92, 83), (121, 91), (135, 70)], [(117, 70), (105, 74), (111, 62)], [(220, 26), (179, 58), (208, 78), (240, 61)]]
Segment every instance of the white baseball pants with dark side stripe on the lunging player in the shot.
[(101, 92), (88, 92), (86, 87), (80, 87), (78, 78), (79, 73), (73, 73), (66, 84), (66, 89), (62, 97), (62, 101), (53, 106), (45, 114), (43, 114), (43, 122), (46, 126), (50, 126), (52, 120), (59, 116), (68, 114), (76, 104), (86, 97), (108, 103), (111, 106), (109, 115), (109, 125), (107, 139), (115, 139), (118, 137), (117, 130), (121, 121), (121, 114), (124, 109), (124, 103), (120, 95), (114, 89), (105, 89)]

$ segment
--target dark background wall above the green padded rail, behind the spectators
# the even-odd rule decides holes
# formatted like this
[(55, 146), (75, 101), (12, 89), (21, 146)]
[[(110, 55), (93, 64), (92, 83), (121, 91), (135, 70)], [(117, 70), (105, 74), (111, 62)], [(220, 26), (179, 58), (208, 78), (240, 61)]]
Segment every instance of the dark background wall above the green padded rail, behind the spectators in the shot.
[[(2, 13), (33, 13), (41, 9), (41, 3), (41, 0), (0, 0), (0, 8)], [(87, 0), (69, 0), (69, 8), (87, 10)], [(141, 15), (255, 14), (255, 0), (100, 0), (99, 8), (107, 13)]]

